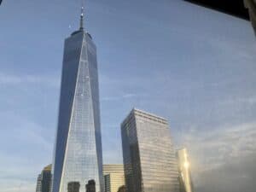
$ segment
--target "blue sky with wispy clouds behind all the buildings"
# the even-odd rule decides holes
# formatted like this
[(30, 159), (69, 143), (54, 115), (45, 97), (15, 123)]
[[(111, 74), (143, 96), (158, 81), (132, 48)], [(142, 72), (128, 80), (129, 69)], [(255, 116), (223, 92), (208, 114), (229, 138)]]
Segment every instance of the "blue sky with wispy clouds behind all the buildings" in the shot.
[[(0, 7), (0, 192), (33, 192), (51, 163), (64, 39), (79, 0)], [(256, 42), (246, 20), (182, 0), (87, 0), (97, 46), (103, 162), (122, 163), (131, 108), (168, 119), (196, 192), (256, 185)]]

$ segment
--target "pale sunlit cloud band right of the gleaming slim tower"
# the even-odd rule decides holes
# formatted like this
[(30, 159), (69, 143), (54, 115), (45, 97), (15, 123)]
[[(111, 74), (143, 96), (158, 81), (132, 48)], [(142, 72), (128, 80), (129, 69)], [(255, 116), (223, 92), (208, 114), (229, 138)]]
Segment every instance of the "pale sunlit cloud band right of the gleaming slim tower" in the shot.
[[(182, 140), (188, 146), (193, 161), (195, 183), (201, 183), (201, 174), (242, 160), (256, 154), (256, 122), (241, 125), (224, 125), (208, 131), (192, 127), (183, 133)], [(231, 176), (230, 176), (231, 177)]]

